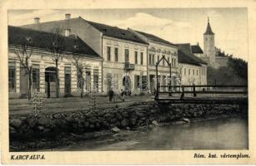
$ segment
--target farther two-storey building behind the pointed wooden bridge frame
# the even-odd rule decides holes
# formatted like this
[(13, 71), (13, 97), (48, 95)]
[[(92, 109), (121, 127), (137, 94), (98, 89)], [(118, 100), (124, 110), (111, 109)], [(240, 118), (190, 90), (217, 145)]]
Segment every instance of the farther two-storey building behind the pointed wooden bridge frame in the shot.
[[(158, 81), (160, 85), (178, 84), (178, 46), (166, 41), (160, 37), (146, 32), (135, 31), (128, 28), (129, 31), (148, 42), (148, 87), (153, 92), (156, 85), (156, 62), (165, 56), (168, 63), (171, 64), (172, 76), (170, 77), (170, 67), (166, 61), (161, 61), (158, 66)], [(163, 89), (168, 90), (167, 87)]]

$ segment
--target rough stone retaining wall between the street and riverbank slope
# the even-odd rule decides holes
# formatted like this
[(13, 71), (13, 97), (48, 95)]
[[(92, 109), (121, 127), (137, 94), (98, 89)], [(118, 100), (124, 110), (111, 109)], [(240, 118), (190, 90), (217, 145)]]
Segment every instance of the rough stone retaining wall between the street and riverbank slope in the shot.
[[(65, 132), (85, 133), (96, 130), (136, 129), (139, 126), (172, 122), (175, 120), (207, 118), (210, 115), (240, 114), (238, 105), (157, 105), (154, 102), (137, 103), (128, 108), (61, 112), (48, 115), (12, 115), (9, 118), (10, 136), (29, 137)], [(244, 115), (247, 115), (247, 110)]]

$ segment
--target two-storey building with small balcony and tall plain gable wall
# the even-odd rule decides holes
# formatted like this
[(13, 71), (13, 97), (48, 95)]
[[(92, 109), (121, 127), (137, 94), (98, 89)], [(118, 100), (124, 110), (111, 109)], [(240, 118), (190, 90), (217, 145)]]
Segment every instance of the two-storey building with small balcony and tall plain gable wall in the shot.
[(105, 24), (90, 22), (82, 17), (71, 18), (66, 14), (64, 20), (35, 23), (23, 27), (51, 32), (60, 27), (63, 34), (77, 35), (87, 41), (94, 51), (103, 58), (101, 91), (146, 90), (148, 43), (128, 30)]

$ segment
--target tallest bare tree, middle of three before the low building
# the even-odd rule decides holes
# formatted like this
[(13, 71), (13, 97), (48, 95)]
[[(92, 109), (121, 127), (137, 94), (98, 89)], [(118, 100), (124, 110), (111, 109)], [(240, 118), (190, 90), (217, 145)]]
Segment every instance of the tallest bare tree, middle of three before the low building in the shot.
[(59, 73), (58, 63), (63, 58), (64, 51), (66, 49), (66, 42), (63, 36), (62, 30), (59, 27), (53, 29), (53, 36), (50, 38), (49, 50), (52, 54), (53, 61), (55, 63), (56, 71), (56, 97), (59, 97)]

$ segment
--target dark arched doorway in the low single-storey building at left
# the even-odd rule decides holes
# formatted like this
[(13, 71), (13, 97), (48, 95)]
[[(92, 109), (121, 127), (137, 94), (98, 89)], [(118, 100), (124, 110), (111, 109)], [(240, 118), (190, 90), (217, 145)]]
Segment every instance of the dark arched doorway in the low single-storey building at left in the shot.
[(47, 97), (56, 97), (56, 67), (45, 69), (45, 92)]

